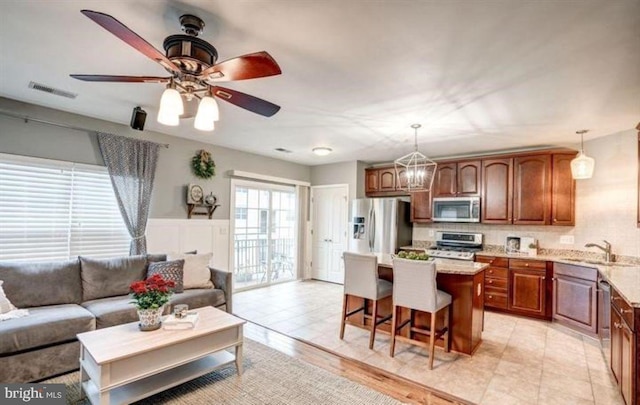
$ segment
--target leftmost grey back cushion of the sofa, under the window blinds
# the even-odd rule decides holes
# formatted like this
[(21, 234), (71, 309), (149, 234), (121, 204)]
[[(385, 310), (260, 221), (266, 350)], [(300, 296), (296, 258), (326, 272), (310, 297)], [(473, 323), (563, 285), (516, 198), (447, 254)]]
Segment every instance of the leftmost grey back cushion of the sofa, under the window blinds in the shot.
[(0, 263), (0, 280), (7, 298), (18, 308), (82, 302), (78, 259)]

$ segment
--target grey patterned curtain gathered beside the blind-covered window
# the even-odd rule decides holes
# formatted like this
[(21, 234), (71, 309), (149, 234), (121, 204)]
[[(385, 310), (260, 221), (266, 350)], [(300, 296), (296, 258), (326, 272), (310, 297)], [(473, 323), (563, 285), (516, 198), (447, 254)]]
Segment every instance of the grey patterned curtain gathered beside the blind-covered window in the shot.
[(129, 254), (146, 254), (144, 234), (160, 145), (111, 134), (98, 134), (98, 144), (122, 219), (131, 235)]

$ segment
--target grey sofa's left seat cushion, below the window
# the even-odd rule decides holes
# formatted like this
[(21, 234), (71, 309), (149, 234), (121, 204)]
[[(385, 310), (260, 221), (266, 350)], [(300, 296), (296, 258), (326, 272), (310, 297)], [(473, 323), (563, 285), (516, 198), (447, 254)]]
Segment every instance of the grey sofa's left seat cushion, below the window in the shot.
[(0, 322), (0, 354), (73, 341), (95, 327), (91, 312), (80, 305), (31, 308), (29, 316)]

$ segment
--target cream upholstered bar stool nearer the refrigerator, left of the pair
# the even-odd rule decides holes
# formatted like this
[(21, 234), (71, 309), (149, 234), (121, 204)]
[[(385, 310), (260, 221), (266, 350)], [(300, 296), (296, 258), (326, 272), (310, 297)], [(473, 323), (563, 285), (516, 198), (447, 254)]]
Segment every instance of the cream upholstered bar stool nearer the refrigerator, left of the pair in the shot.
[[(342, 321), (340, 322), (340, 339), (344, 339), (344, 326), (351, 315), (360, 311), (366, 312), (367, 300), (373, 301), (371, 318), (371, 336), (369, 349), (373, 349), (376, 327), (391, 319), (391, 315), (378, 319), (378, 301), (390, 297), (393, 286), (389, 281), (378, 278), (378, 258), (374, 255), (344, 252), (344, 297), (342, 300)], [(348, 297), (364, 298), (363, 305), (347, 313)], [(365, 318), (369, 315), (364, 315)]]

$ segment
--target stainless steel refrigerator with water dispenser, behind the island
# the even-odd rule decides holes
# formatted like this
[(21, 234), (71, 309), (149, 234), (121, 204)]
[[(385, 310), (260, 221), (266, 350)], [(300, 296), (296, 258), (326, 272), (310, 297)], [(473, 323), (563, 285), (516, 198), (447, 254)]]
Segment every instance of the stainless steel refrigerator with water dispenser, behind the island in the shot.
[(361, 198), (351, 202), (349, 250), (397, 253), (411, 245), (410, 206), (398, 198)]

